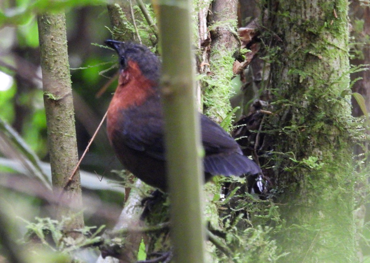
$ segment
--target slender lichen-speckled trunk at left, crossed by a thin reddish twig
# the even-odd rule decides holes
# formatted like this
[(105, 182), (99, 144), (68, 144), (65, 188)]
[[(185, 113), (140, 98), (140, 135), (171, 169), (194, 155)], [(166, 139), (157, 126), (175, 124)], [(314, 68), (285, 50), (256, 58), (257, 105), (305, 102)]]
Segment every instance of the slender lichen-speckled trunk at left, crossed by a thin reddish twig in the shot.
[[(68, 64), (64, 14), (43, 14), (37, 17), (43, 74), (51, 175), (55, 194), (59, 194), (78, 161), (71, 78)], [(62, 198), (71, 207), (81, 207), (80, 174), (66, 187)], [(57, 207), (54, 217), (71, 217), (65, 230), (84, 226), (81, 210)]]

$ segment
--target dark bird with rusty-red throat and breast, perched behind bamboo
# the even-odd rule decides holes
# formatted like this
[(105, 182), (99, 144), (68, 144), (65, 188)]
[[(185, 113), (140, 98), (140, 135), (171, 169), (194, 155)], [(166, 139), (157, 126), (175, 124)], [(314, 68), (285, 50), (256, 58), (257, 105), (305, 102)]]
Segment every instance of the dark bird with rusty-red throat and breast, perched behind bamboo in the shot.
[[(161, 60), (135, 42), (106, 40), (118, 54), (118, 86), (107, 113), (107, 135), (118, 159), (135, 177), (168, 191), (161, 104)], [(215, 175), (256, 175), (260, 167), (216, 122), (199, 113), (205, 181)], [(181, 120), (179, 120), (181, 121)]]

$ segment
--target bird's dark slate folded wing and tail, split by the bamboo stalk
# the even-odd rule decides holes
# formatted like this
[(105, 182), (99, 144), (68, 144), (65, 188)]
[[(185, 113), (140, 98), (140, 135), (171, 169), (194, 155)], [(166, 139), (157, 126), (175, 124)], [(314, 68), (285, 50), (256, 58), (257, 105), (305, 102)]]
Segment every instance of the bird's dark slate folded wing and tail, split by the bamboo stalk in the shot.
[[(152, 107), (144, 103), (140, 107)], [(143, 111), (135, 107), (122, 126), (124, 143), (137, 151), (165, 161), (164, 121), (161, 111)], [(235, 140), (207, 116), (199, 114), (202, 144), (205, 150), (204, 170), (210, 174), (225, 176), (257, 174), (260, 168), (242, 154)]]

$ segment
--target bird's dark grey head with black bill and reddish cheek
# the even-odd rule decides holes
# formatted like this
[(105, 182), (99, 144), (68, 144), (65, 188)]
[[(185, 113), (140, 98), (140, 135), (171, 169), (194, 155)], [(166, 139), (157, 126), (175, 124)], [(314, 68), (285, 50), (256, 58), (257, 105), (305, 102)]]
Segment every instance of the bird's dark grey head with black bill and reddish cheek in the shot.
[(148, 47), (134, 42), (117, 40), (105, 40), (105, 44), (118, 53), (121, 72), (138, 67), (147, 79), (158, 83), (161, 63), (158, 56), (152, 53)]

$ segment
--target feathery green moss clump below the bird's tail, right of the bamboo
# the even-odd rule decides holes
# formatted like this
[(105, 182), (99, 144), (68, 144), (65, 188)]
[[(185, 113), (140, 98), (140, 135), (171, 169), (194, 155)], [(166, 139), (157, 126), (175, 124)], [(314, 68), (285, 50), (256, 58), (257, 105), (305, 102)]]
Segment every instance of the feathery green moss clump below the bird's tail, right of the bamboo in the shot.
[(225, 233), (223, 242), (231, 251), (231, 257), (218, 253), (218, 262), (277, 262), (286, 255), (272, 237), (282, 224), (278, 207), (271, 199), (260, 200), (246, 193), (242, 179), (219, 178), (236, 186), (224, 200), (213, 200), (221, 207), (219, 231)]

